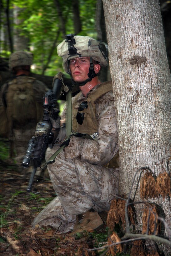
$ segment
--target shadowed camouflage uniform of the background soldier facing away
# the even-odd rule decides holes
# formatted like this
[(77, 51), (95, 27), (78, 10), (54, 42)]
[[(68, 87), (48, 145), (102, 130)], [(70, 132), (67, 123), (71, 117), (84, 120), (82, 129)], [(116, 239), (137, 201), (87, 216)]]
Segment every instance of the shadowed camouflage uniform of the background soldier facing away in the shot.
[[(37, 118), (31, 118), (27, 119), (26, 122), (18, 122), (12, 120), (9, 113), (10, 110), (8, 109), (8, 102), (7, 102), (7, 94), (8, 94), (8, 87), (9, 86), (15, 86), (16, 84), (22, 84), (30, 83), (33, 86), (33, 93), (35, 102), (38, 106), (38, 113)], [(45, 92), (48, 91), (48, 87), (41, 81), (30, 77), (30, 76), (16, 76), (12, 81), (6, 82), (0, 91), (0, 112), (1, 114), (4, 114), (4, 118), (7, 119), (7, 124), (9, 126), (9, 132), (8, 132), (8, 138), (10, 141), (13, 141), (14, 144), (14, 150), (16, 151), (15, 160), (18, 165), (21, 166), (21, 162), (23, 159), (23, 156), (26, 154), (26, 150), (28, 148), (28, 140), (31, 139), (35, 132), (35, 127), (38, 121), (42, 119), (43, 116), (43, 99)], [(14, 106), (12, 106), (14, 107)], [(33, 110), (35, 106), (33, 106)], [(22, 110), (21, 110), (22, 111)], [(26, 116), (29, 116), (29, 112), (31, 109), (27, 110), (28, 112), (25, 113)], [(3, 113), (4, 112), (4, 113)], [(19, 115), (22, 115), (21, 112), (18, 113)]]

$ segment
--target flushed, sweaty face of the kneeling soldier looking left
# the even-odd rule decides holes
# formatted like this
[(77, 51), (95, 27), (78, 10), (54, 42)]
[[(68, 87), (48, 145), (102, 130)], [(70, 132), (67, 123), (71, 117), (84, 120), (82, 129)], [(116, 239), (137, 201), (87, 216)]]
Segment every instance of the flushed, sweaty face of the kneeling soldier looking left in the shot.
[(75, 82), (82, 82), (88, 79), (90, 57), (78, 57), (69, 61), (71, 76)]

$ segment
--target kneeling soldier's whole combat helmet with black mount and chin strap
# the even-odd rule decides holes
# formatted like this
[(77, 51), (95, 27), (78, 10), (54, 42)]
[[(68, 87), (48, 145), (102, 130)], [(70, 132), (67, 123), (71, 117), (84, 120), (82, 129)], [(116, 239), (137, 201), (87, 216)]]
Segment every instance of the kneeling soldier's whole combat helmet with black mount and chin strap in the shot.
[(93, 61), (97, 61), (100, 66), (108, 66), (108, 45), (102, 41), (95, 40), (87, 36), (75, 36), (69, 34), (65, 40), (57, 46), (58, 56), (63, 57), (63, 69), (70, 74), (69, 60), (78, 57), (90, 57), (90, 68), (88, 79), (83, 82), (75, 82), (79, 86), (91, 81), (97, 76), (94, 72)]

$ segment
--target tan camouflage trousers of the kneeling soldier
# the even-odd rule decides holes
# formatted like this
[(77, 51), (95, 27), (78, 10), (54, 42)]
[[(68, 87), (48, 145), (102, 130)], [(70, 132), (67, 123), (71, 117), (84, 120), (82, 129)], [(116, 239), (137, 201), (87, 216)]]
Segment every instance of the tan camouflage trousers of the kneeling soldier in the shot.
[[(46, 160), (58, 149), (47, 149)], [(109, 210), (110, 200), (118, 194), (119, 168), (107, 169), (80, 159), (65, 159), (63, 151), (55, 163), (48, 165), (49, 176), (57, 197), (33, 220), (32, 226), (51, 225), (58, 232), (73, 229), (76, 215), (89, 209)]]

